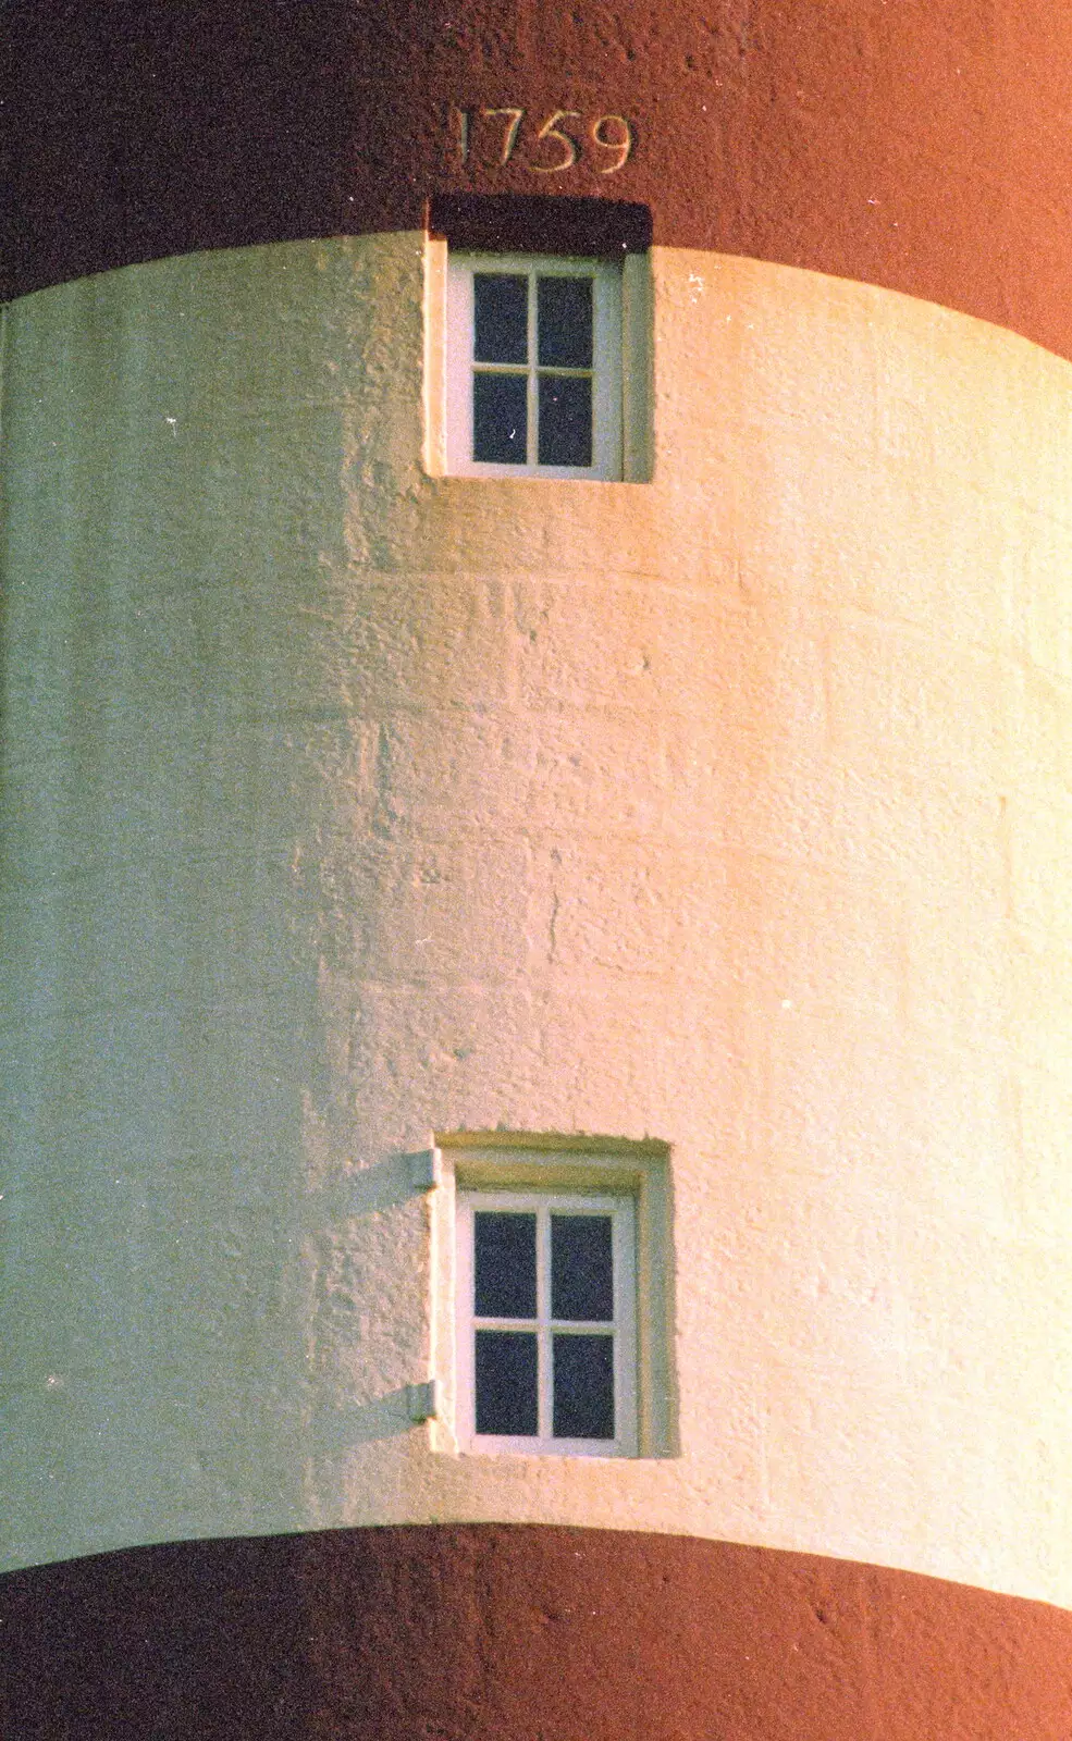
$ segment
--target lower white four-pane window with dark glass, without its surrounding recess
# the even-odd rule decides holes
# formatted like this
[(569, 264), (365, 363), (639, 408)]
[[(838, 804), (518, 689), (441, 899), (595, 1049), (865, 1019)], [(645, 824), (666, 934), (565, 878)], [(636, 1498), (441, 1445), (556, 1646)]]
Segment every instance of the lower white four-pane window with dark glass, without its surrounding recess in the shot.
[(459, 1194), (458, 1353), (470, 1449), (635, 1455), (632, 1198)]

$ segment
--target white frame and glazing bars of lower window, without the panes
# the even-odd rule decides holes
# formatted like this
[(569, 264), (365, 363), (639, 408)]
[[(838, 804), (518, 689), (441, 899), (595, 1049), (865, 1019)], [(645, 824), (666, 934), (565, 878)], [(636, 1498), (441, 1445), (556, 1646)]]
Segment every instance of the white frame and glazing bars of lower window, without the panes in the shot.
[[(473, 1215), (480, 1210), (536, 1215), (536, 1318), (477, 1318)], [(613, 1241), (614, 1311), (611, 1320), (555, 1320), (550, 1313), (550, 1217), (609, 1215)], [(637, 1302), (635, 1302), (635, 1213), (628, 1196), (546, 1194), (529, 1191), (466, 1191), (458, 1198), (458, 1398), (459, 1443), (482, 1452), (552, 1452), (569, 1457), (637, 1455)], [(477, 1433), (477, 1330), (536, 1334), (538, 1342), (538, 1431), (526, 1436)], [(555, 1438), (552, 1431), (552, 1337), (607, 1334), (614, 1342), (614, 1438)]]

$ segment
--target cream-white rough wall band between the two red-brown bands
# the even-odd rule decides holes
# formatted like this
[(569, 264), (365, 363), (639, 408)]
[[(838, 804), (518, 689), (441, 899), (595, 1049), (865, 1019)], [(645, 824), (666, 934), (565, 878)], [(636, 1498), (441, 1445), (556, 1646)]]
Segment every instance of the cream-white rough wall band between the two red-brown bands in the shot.
[[(646, 486), (423, 474), (418, 235), (9, 310), (7, 1563), (498, 1518), (1072, 1605), (1072, 373), (653, 277)], [(496, 1126), (673, 1146), (680, 1455), (407, 1426), (404, 1156)]]

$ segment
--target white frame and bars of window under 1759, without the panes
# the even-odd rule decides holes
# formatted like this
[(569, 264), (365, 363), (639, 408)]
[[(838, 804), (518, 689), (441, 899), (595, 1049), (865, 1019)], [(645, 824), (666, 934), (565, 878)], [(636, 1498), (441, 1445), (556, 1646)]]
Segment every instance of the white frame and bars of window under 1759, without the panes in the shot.
[[(479, 272), (510, 273), (529, 282), (529, 362), (501, 373), (529, 378), (529, 451), (536, 453), (536, 360), (534, 303), (538, 277), (592, 280), (592, 465), (501, 465), (473, 460), (473, 277)], [(621, 369), (621, 265), (557, 254), (491, 254), (454, 251), (447, 256), (447, 472), (456, 477), (623, 477), (623, 369)], [(499, 366), (491, 366), (496, 371)]]

